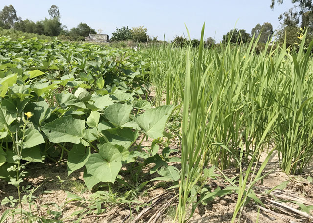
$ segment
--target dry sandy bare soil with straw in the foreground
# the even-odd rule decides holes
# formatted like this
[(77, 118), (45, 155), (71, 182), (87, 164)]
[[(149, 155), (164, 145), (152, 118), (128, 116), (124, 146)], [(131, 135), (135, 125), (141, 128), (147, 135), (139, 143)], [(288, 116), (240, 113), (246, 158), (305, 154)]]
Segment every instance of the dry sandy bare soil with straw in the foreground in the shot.
[[(149, 140), (147, 142), (143, 142), (143, 145), (149, 144)], [(262, 159), (261, 159), (262, 161)], [(81, 210), (84, 208), (88, 208), (88, 205), (94, 205), (94, 203), (87, 201), (90, 200), (90, 195), (92, 194), (83, 183), (83, 172), (75, 171), (69, 177), (67, 176), (67, 165), (66, 163), (58, 164), (55, 163), (33, 163), (29, 166), (30, 175), (25, 179), (23, 185), (32, 185), (34, 188), (37, 188), (33, 195), (36, 197), (33, 199), (33, 204), (31, 206), (32, 212), (37, 215), (44, 217), (46, 219), (53, 219), (53, 214), (59, 213), (60, 216), (58, 219), (62, 219), (61, 222), (74, 222), (70, 219), (75, 219), (76, 216), (73, 215), (75, 211)], [(148, 170), (148, 168), (147, 168)], [(302, 176), (287, 176), (284, 172), (279, 170), (279, 163), (277, 159), (277, 154), (273, 154), (270, 161), (268, 162), (267, 168), (264, 173), (271, 171), (270, 174), (263, 180), (263, 183), (259, 183), (260, 187), (268, 187), (273, 188), (284, 181), (290, 181), (287, 187), (283, 190), (288, 194), (293, 194), (295, 196), (299, 196), (308, 201), (313, 201), (313, 184), (307, 182), (306, 178), (310, 175), (313, 175), (313, 164), (311, 163), (305, 170), (305, 173)], [(127, 175), (127, 172), (124, 174)], [(228, 170), (225, 171), (225, 174), (229, 177), (234, 176), (236, 174), (236, 170)], [(122, 173), (123, 175), (123, 173)], [(151, 176), (149, 174), (143, 174), (142, 180), (149, 180)], [(124, 176), (125, 180), (129, 176)], [(215, 182), (219, 184), (224, 182), (223, 179)], [(136, 200), (141, 202), (148, 202), (156, 196), (165, 192), (166, 186), (153, 182), (147, 184), (147, 186), (143, 189), (146, 189), (145, 193), (139, 194)], [(116, 189), (116, 188), (115, 188)], [(122, 190), (120, 194), (122, 194)], [(70, 198), (68, 197), (68, 192), (71, 194), (75, 194), (82, 199), (86, 199), (85, 202), (80, 201), (72, 201), (68, 202)], [(94, 192), (94, 191), (93, 191)], [(125, 191), (124, 191), (125, 192)], [(7, 184), (7, 182), (1, 180), (0, 181), (0, 200), (5, 197), (13, 196), (17, 198), (16, 188), (12, 185)], [(166, 195), (169, 196), (169, 195)], [(164, 197), (164, 202), (169, 200), (172, 197)], [(236, 204), (236, 194), (227, 195), (223, 198), (215, 198), (213, 201), (209, 202), (206, 206), (200, 205), (195, 214), (193, 215), (190, 223), (228, 223), (230, 222), (233, 214), (233, 210)], [(66, 202), (68, 202), (66, 204)], [(161, 215), (158, 223), (172, 223), (173, 217), (175, 216), (175, 206), (177, 203), (177, 199), (173, 200), (170, 206), (166, 208), (164, 213)], [(286, 205), (290, 207), (297, 208), (298, 206), (295, 203), (288, 202)], [(140, 212), (145, 207), (140, 207), (137, 203), (131, 205), (132, 216), (130, 214), (129, 205), (125, 204), (114, 204), (114, 202), (108, 202), (101, 204), (102, 213), (95, 217), (96, 214), (89, 213), (85, 215), (85, 217), (81, 220), (77, 220), (76, 222), (81, 223), (121, 223), (132, 222), (134, 217), (137, 215), (135, 210), (136, 206), (138, 206), (138, 211)], [(6, 209), (9, 209), (8, 205), (0, 206), (0, 214), (2, 214)], [(24, 204), (23, 208), (29, 211), (29, 206)], [(156, 206), (150, 215), (147, 215), (145, 218), (141, 218), (137, 222), (144, 223), (148, 221), (149, 217), (159, 210), (159, 206)], [(55, 211), (55, 212), (52, 212)], [(96, 212), (96, 211), (94, 211)], [(259, 213), (259, 222), (260, 223), (285, 223), (285, 222), (306, 222), (304, 218), (301, 218), (298, 215), (293, 215), (292, 213), (282, 212), (277, 208), (276, 213), (267, 213), (263, 210), (260, 210)], [(312, 215), (311, 211), (311, 215)], [(241, 220), (237, 222), (242, 223), (255, 223), (257, 222), (258, 216), (258, 207), (252, 201), (247, 204), (242, 212)], [(126, 217), (130, 217), (126, 219)], [(9, 218), (4, 222), (16, 222), (17, 219)]]

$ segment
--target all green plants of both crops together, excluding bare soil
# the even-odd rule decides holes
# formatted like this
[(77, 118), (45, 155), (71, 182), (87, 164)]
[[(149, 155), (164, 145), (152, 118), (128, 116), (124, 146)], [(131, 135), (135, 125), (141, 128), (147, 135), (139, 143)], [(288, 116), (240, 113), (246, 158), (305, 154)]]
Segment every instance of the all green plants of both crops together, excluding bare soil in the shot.
[[(151, 181), (179, 190), (179, 223), (199, 203), (233, 192), (232, 222), (249, 200), (262, 205), (253, 187), (275, 150), (286, 173), (303, 171), (313, 154), (313, 41), (306, 48), (301, 35), (294, 50), (268, 41), (259, 52), (258, 39), (205, 49), (203, 37), (204, 27), (199, 48), (138, 52), (0, 37), (0, 178), (18, 189), (21, 222), (20, 187), (31, 162), (66, 160), (68, 174), (84, 170), (90, 190), (99, 182), (129, 185), (118, 176), (122, 166), (143, 188), (149, 181), (138, 176), (153, 163), (148, 172), (158, 176)], [(161, 143), (175, 137), (170, 133), (181, 158)], [(142, 146), (148, 137), (151, 145)], [(240, 172), (229, 179), (223, 170), (233, 167)], [(229, 187), (208, 186), (217, 171)]]

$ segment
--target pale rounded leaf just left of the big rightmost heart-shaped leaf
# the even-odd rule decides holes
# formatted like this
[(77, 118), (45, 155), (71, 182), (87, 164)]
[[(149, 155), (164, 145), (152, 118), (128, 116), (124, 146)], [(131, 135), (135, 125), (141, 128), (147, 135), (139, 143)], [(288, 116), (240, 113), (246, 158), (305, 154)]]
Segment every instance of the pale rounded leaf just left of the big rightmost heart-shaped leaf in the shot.
[(111, 123), (121, 126), (128, 122), (132, 108), (132, 105), (116, 103), (108, 106), (104, 111), (104, 115)]

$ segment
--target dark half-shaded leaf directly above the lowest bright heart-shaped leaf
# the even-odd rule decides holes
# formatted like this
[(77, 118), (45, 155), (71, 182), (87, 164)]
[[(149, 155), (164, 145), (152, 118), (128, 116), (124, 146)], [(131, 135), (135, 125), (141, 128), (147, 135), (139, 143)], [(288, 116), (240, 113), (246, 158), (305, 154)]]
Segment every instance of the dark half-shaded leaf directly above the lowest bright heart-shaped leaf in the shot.
[(113, 145), (129, 148), (138, 138), (139, 133), (131, 128), (112, 128), (102, 131), (102, 134)]

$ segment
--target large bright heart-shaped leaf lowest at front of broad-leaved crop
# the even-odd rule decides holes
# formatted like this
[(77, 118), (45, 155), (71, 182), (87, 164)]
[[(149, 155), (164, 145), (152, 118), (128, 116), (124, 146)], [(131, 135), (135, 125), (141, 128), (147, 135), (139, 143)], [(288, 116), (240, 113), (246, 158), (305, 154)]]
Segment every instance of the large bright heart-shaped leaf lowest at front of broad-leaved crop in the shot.
[(122, 154), (110, 143), (99, 146), (99, 153), (91, 154), (86, 162), (87, 172), (102, 182), (114, 183), (122, 168)]

